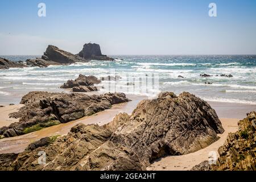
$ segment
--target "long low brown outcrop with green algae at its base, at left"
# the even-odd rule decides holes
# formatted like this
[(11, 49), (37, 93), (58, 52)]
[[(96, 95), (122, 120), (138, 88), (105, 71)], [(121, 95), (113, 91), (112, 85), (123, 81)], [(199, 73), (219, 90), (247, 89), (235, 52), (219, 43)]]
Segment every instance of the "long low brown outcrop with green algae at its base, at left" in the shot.
[(10, 114), (10, 117), (19, 118), (19, 122), (0, 128), (0, 135), (23, 135), (60, 122), (66, 123), (92, 115), (109, 109), (113, 104), (128, 101), (123, 93), (88, 96), (81, 93), (30, 92), (23, 96), (20, 102), (24, 106), (18, 112)]

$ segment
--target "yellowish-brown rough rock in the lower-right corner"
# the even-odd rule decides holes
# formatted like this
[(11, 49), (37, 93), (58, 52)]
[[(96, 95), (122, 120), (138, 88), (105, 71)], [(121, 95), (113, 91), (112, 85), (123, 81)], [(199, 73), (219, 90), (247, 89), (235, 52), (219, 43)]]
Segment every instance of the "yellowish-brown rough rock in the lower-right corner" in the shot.
[(229, 133), (223, 146), (218, 148), (220, 157), (216, 165), (204, 161), (192, 170), (196, 171), (256, 171), (256, 112), (238, 122), (238, 131)]

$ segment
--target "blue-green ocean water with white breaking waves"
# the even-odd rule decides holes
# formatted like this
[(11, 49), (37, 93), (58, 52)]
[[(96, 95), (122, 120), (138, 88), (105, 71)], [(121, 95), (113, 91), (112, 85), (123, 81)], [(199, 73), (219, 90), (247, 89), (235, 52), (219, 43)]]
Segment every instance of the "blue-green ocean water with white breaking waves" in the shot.
[[(25, 61), (40, 56), (0, 56), (13, 61)], [(115, 61), (90, 61), (71, 65), (49, 66), (48, 68), (28, 67), (0, 70), (0, 104), (18, 103), (20, 98), (33, 90), (68, 92), (59, 86), (79, 74), (105, 77), (115, 71), (121, 80), (115, 82), (115, 91), (134, 87), (127, 82), (145, 75), (157, 75), (157, 91), (171, 91), (179, 94), (191, 92), (207, 101), (233, 102), (256, 105), (256, 55), (179, 55), (179, 56), (123, 56)], [(200, 77), (201, 73), (214, 75)], [(221, 74), (233, 77), (221, 77)], [(179, 78), (178, 76), (184, 78)], [(218, 76), (215, 76), (218, 75)], [(134, 77), (134, 80), (130, 80)], [(205, 82), (211, 82), (208, 85)], [(108, 81), (103, 81), (101, 92), (108, 91)], [(119, 88), (122, 88), (119, 90)], [(151, 88), (150, 88), (151, 89)], [(129, 89), (129, 94), (151, 94)]]

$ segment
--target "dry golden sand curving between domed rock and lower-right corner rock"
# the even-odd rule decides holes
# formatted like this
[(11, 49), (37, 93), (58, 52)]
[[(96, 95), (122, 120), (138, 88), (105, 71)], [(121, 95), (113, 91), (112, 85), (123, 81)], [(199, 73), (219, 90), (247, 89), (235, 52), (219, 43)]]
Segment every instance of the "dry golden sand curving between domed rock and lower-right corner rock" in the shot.
[(218, 134), (220, 139), (208, 147), (187, 155), (166, 156), (156, 160), (147, 168), (149, 171), (185, 171), (191, 169), (193, 166), (208, 160), (209, 152), (215, 151), (218, 156), (218, 147), (224, 144), (228, 133), (234, 133), (238, 130), (237, 122), (239, 119), (221, 118), (222, 127), (225, 132)]

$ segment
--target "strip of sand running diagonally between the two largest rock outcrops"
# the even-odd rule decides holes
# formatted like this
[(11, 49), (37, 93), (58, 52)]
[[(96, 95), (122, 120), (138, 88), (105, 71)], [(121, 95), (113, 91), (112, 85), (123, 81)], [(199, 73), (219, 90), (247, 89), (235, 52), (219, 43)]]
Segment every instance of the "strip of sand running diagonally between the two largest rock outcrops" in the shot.
[[(28, 144), (30, 144), (31, 142), (35, 142), (40, 138), (50, 137), (53, 135), (68, 134), (71, 127), (77, 125), (77, 123), (84, 123), (84, 124), (97, 123), (98, 125), (104, 125), (105, 123), (112, 121), (112, 119), (118, 113), (125, 112), (128, 114), (131, 114), (131, 112), (137, 106), (138, 102), (143, 99), (146, 99), (146, 97), (142, 97), (142, 96), (129, 96), (129, 98), (132, 101), (113, 105), (111, 109), (101, 111), (89, 117), (80, 118), (68, 123), (61, 123), (60, 125), (47, 127), (46, 129), (35, 131), (33, 133), (29, 133), (26, 135), (0, 139), (0, 154), (12, 153), (12, 152), (19, 153), (19, 152), (22, 152), (28, 146)], [(18, 108), (18, 107), (20, 106), (16, 106), (15, 108)], [(14, 112), (14, 110), (11, 109), (9, 106), (6, 106), (6, 109), (7, 108), (9, 108), (10, 113)], [(7, 116), (8, 113), (6, 113), (5, 115)], [(0, 118), (3, 118), (1, 113), (0, 113)], [(7, 123), (7, 121), (5, 121), (5, 123)]]

